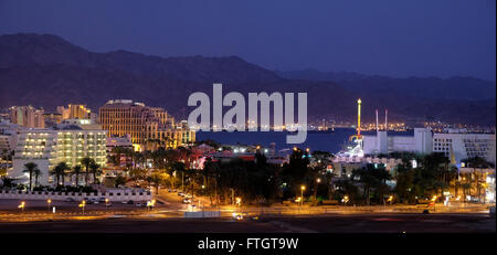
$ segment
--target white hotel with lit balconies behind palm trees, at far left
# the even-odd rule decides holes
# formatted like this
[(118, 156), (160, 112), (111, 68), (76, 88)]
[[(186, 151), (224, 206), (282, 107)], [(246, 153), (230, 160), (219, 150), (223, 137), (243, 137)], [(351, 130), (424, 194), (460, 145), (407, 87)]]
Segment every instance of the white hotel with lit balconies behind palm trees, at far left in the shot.
[(22, 130), (9, 177), (18, 183), (28, 183), (24, 164), (34, 162), (42, 172), (40, 184), (54, 184), (50, 171), (59, 162), (66, 162), (72, 168), (81, 164), (85, 157), (94, 159), (101, 167), (105, 167), (107, 161), (106, 131), (89, 119), (66, 119), (53, 129)]

